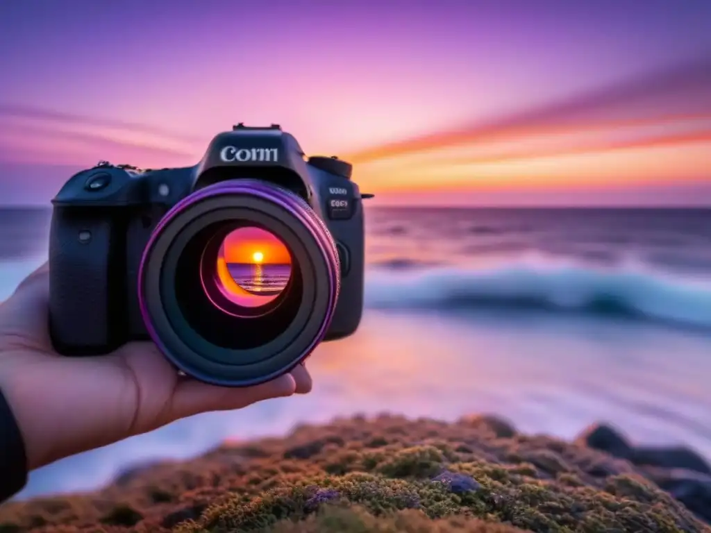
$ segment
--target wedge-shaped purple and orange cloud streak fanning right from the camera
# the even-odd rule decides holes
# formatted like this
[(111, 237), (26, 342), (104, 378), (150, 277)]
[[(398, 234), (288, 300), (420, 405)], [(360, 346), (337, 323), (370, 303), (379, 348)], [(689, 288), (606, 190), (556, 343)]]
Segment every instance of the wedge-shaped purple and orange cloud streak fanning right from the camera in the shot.
[(702, 58), (348, 158), (362, 188), (395, 200), (398, 191), (613, 191), (711, 183), (709, 94), (711, 58)]

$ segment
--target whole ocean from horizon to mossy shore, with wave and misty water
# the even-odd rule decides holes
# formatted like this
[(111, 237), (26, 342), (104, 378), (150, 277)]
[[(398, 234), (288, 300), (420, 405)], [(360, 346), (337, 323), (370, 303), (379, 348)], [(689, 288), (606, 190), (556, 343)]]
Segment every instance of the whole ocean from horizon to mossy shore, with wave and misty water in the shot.
[[(46, 257), (48, 216), (0, 211), (0, 299)], [(562, 438), (606, 421), (711, 458), (711, 210), (366, 216), (363, 322), (316, 349), (311, 394), (65, 458), (31, 473), (20, 497), (90, 490), (132, 465), (383, 406), (447, 420), (493, 413)]]

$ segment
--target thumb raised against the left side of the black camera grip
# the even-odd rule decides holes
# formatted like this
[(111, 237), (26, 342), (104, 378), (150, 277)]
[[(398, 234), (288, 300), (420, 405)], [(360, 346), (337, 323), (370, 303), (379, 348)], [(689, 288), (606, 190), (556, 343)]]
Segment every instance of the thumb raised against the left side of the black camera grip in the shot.
[(43, 264), (18, 285), (14, 294), (0, 306), (0, 334), (26, 339), (33, 348), (49, 345), (49, 269)]

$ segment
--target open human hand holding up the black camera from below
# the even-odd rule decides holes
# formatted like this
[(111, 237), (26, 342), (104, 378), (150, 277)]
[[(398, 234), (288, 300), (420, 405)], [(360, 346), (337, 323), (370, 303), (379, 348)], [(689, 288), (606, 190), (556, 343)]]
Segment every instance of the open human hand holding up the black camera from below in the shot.
[(148, 342), (109, 355), (62, 357), (50, 342), (48, 298), (44, 264), (0, 304), (0, 391), (23, 436), (28, 470), (185, 416), (311, 390), (302, 365), (255, 387), (198, 382), (178, 375)]

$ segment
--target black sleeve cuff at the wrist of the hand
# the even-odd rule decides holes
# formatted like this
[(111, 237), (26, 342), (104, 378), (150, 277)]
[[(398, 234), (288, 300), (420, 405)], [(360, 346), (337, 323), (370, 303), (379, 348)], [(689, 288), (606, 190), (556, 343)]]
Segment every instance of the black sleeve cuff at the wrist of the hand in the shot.
[(25, 483), (25, 443), (12, 409), (0, 391), (0, 502), (14, 496)]

